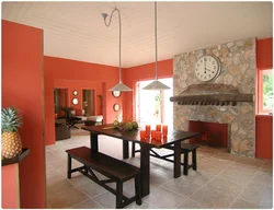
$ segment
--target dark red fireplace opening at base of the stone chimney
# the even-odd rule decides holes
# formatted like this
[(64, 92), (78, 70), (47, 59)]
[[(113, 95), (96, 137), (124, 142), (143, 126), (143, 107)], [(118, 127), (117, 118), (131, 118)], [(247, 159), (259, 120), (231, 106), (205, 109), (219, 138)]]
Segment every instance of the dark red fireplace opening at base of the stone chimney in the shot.
[(190, 120), (190, 131), (201, 133), (201, 136), (190, 139), (190, 143), (226, 148), (230, 152), (229, 124)]

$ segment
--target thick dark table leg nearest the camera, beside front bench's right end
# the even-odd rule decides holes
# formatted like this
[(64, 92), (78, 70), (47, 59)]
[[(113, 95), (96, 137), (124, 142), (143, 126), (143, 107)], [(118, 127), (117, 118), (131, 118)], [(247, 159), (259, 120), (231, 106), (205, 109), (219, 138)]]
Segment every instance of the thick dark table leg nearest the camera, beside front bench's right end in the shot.
[(149, 195), (150, 191), (150, 148), (140, 145), (140, 182), (141, 182), (141, 197)]

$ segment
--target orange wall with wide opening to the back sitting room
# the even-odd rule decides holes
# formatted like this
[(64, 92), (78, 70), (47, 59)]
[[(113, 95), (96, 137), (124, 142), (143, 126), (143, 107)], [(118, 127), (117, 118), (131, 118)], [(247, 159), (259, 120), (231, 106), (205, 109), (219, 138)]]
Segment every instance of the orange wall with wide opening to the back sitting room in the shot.
[[(118, 68), (104, 65), (89, 63), (77, 60), (44, 57), (45, 68), (45, 116), (46, 116), (46, 144), (55, 143), (54, 127), (54, 88), (66, 86), (69, 89), (69, 101), (72, 97), (72, 90), (95, 89), (96, 95), (103, 96), (104, 124), (113, 122), (116, 118), (113, 112), (114, 102), (122, 101), (114, 98), (109, 91), (118, 82)], [(125, 70), (122, 69), (123, 81)], [(80, 93), (81, 94), (81, 93)], [(81, 98), (80, 98), (81, 102)], [(96, 106), (99, 106), (96, 104)], [(76, 106), (81, 108), (81, 104)], [(98, 107), (96, 107), (98, 110)]]

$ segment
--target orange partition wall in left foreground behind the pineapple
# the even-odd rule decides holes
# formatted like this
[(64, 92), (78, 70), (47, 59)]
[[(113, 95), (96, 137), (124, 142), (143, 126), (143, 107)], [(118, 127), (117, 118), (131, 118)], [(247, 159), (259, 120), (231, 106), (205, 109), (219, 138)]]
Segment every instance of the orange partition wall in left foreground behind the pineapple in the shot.
[(19, 132), (23, 148), (30, 149), (19, 166), (21, 208), (45, 208), (46, 203), (43, 103), (43, 31), (2, 21), (2, 106), (21, 110)]

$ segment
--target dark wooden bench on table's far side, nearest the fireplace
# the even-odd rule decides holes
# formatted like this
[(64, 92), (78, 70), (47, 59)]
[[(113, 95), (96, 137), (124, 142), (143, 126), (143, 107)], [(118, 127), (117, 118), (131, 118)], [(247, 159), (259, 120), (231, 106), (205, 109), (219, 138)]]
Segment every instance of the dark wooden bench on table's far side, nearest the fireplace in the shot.
[[(189, 143), (181, 143), (181, 153), (184, 154), (184, 161), (181, 163), (183, 165), (183, 174), (187, 175), (189, 170), (193, 168), (194, 171), (197, 170), (197, 156), (196, 156), (196, 150), (198, 145), (197, 144), (189, 144)], [(165, 147), (163, 149), (169, 149), (169, 150), (174, 150), (173, 145)], [(132, 145), (132, 156), (135, 156), (136, 152), (140, 152), (139, 150), (135, 150), (135, 143), (133, 142)], [(189, 153), (192, 152), (192, 164), (189, 164)], [(160, 155), (158, 154), (153, 149), (150, 149), (150, 155), (155, 156), (157, 159), (161, 159), (164, 161), (169, 161), (173, 163), (173, 160), (170, 160), (168, 158), (173, 156), (174, 154), (165, 154), (165, 155)]]

